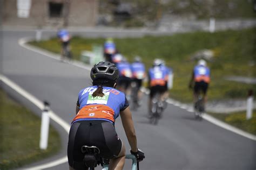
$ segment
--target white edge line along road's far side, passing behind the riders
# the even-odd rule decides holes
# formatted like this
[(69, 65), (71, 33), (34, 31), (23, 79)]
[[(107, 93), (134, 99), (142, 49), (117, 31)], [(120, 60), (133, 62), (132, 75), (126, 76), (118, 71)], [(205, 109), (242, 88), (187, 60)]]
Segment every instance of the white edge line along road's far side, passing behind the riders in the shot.
[[(51, 53), (46, 53), (46, 52), (43, 52), (41, 49), (37, 49), (37, 48), (31, 47), (31, 46), (25, 45), (25, 43), (28, 42), (28, 41), (29, 41), (28, 38), (22, 38), (22, 39), (19, 40), (19, 45), (21, 45), (22, 47), (24, 47), (26, 49), (30, 49), (31, 51), (34, 51), (34, 52), (37, 52), (39, 54), (43, 54), (43, 55), (49, 56), (50, 58), (53, 58)], [(86, 66), (82, 66), (82, 64), (80, 64), (80, 63), (78, 65), (77, 64), (73, 64), (73, 65), (78, 66), (80, 68), (84, 68), (86, 70), (90, 70), (90, 68), (88, 66), (87, 67)], [(148, 89), (146, 89), (146, 88), (142, 88), (142, 91), (145, 94), (149, 94), (150, 93), (150, 91)], [(177, 107), (180, 107), (180, 105), (181, 105), (180, 102), (176, 102), (176, 101), (172, 100), (171, 98), (169, 98), (167, 100), (167, 103), (176, 105)], [(192, 112), (191, 108), (189, 108), (189, 107), (186, 110), (188, 112)], [(242, 131), (240, 129), (234, 128), (233, 126), (228, 125), (227, 123), (221, 122), (218, 119), (213, 118), (210, 115), (204, 114), (203, 118), (206, 121), (208, 121), (208, 122), (211, 122), (211, 123), (213, 123), (213, 124), (215, 124), (217, 126), (220, 126), (221, 128), (224, 128), (224, 129), (229, 130), (231, 132), (237, 133), (237, 134), (239, 134), (239, 135), (241, 135), (243, 137), (246, 137), (248, 139), (256, 140), (256, 136), (255, 135), (247, 133), (247, 132)]]

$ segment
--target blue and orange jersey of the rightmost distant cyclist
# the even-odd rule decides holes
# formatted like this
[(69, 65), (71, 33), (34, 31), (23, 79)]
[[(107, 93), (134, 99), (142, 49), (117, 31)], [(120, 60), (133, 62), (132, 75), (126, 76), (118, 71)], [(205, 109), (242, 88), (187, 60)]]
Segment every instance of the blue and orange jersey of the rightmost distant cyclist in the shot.
[(210, 69), (205, 66), (194, 67), (194, 81), (200, 82), (204, 81), (206, 83), (210, 82)]

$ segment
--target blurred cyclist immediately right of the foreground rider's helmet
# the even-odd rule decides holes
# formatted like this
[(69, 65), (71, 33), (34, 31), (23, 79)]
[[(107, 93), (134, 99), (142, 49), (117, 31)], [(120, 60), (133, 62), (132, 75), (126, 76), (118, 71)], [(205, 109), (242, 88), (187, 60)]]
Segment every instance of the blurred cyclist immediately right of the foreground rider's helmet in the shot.
[(130, 63), (123, 57), (121, 62), (118, 62), (117, 68), (119, 70), (119, 77), (117, 79), (117, 89), (126, 94), (128, 100), (130, 100), (130, 85), (132, 78), (132, 70)]

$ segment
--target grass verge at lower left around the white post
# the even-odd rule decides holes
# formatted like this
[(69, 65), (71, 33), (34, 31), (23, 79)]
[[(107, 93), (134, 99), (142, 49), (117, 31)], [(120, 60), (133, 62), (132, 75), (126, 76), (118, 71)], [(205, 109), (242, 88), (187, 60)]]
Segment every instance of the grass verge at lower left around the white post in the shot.
[(18, 104), (0, 89), (0, 169), (13, 169), (56, 153), (60, 148), (58, 132), (50, 125), (49, 143), (39, 148), (41, 119)]

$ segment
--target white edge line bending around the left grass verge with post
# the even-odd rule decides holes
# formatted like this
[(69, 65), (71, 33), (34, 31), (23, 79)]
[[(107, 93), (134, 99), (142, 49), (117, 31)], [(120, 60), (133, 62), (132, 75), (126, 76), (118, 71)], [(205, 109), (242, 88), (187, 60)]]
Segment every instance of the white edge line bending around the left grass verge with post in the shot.
[[(44, 109), (43, 102), (39, 101), (35, 96), (31, 95), (30, 93), (28, 93), (28, 91), (25, 91), (23, 88), (18, 86), (18, 84), (12, 82), (10, 79), (8, 79), (7, 77), (5, 77), (2, 74), (0, 74), (0, 80), (3, 83), (5, 83), (6, 85), (8, 85), (9, 87), (11, 87), (12, 89), (14, 89), (15, 91), (17, 91), (17, 93), (19, 93), (22, 96), (24, 96), (25, 98), (27, 98), (31, 103), (35, 104), (39, 109), (41, 109), (41, 110)], [(59, 116), (57, 116), (55, 114), (55, 112), (53, 112), (53, 111), (49, 111), (49, 116), (53, 121), (55, 121), (60, 126), (62, 126), (62, 128), (64, 128), (64, 130), (67, 133), (69, 133), (70, 125), (68, 123), (63, 121), (63, 119), (60, 118)], [(35, 166), (35, 167), (30, 167), (30, 168), (26, 168), (26, 169), (31, 169), (31, 170), (32, 169), (45, 169), (45, 168), (50, 168), (50, 167), (53, 167), (53, 166), (56, 166), (56, 165), (63, 164), (67, 161), (68, 161), (68, 157), (65, 156), (63, 158), (51, 161), (47, 164), (43, 164), (43, 165), (39, 165), (39, 166)]]

